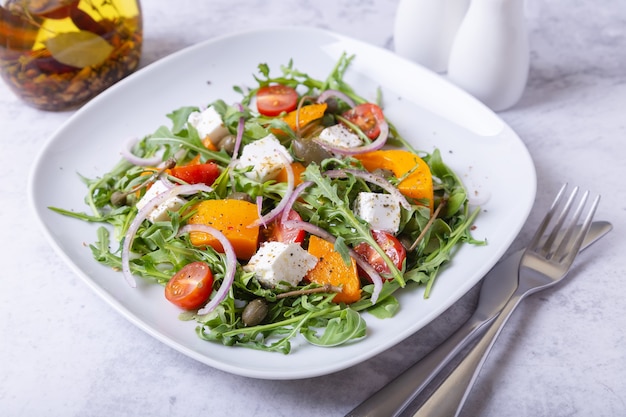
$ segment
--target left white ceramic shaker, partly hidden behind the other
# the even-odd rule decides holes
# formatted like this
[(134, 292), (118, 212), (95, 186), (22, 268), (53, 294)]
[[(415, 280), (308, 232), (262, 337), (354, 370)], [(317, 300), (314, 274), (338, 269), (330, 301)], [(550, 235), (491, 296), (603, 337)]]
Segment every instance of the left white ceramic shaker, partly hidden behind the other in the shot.
[(394, 25), (395, 52), (445, 72), (454, 35), (469, 0), (400, 0)]

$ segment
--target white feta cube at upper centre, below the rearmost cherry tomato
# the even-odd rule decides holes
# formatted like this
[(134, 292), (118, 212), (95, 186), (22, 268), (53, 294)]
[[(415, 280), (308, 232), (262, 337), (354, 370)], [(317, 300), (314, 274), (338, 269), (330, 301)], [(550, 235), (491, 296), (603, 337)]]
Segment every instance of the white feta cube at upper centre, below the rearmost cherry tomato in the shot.
[(276, 136), (270, 133), (266, 137), (243, 147), (238, 167), (252, 167), (251, 171), (246, 172), (246, 176), (264, 182), (276, 178), (285, 164), (292, 161), (293, 158), (287, 148), (281, 145)]

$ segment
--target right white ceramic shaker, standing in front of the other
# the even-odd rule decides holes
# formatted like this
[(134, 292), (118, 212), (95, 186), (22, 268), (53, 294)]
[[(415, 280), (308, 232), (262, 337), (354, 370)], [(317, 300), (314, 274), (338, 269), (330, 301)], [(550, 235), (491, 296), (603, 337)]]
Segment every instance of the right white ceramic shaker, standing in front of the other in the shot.
[(472, 0), (452, 44), (449, 80), (505, 110), (524, 92), (529, 61), (524, 0)]

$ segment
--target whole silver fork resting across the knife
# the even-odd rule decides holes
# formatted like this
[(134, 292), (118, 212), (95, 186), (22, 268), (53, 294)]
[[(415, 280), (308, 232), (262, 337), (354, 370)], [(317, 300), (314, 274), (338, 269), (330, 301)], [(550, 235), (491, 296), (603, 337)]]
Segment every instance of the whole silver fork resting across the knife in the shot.
[[(586, 191), (570, 218), (567, 228), (561, 233), (578, 194), (578, 187), (575, 187), (564, 207), (557, 213), (566, 188), (567, 184), (561, 187), (550, 210), (522, 255), (518, 271), (518, 287), (502, 312), (467, 356), (430, 394), (414, 417), (458, 416), (500, 331), (520, 301), (530, 294), (555, 285), (567, 275), (591, 226), (600, 196), (593, 200), (582, 227), (577, 230), (578, 220), (589, 197), (589, 192)], [(548, 226), (555, 216), (554, 226), (548, 231)]]

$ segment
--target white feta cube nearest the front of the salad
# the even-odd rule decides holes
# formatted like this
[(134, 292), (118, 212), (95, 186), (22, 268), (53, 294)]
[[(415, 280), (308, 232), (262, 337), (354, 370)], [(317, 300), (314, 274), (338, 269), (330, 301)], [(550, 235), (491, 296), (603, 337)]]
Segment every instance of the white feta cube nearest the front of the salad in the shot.
[(317, 258), (297, 243), (265, 242), (250, 258), (244, 271), (254, 272), (261, 284), (295, 287), (317, 264)]

